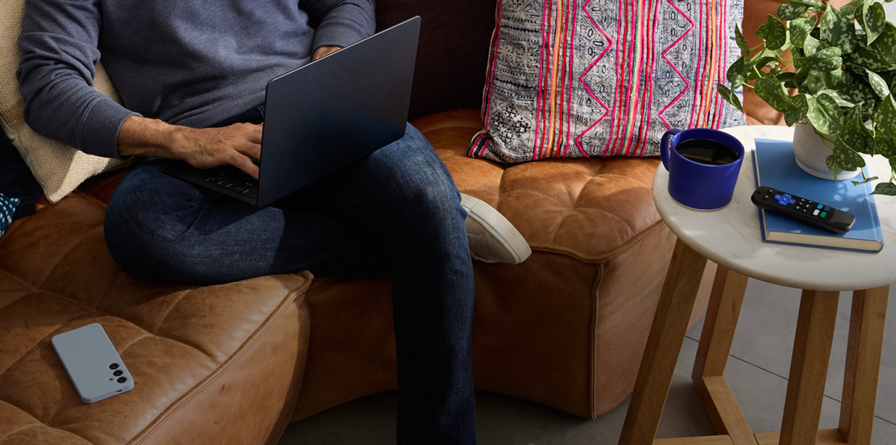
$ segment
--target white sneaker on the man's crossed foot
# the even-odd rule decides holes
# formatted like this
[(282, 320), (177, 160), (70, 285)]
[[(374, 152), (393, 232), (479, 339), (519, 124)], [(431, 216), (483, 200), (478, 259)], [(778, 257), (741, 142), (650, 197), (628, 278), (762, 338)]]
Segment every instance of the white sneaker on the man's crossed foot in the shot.
[(485, 201), (461, 193), (461, 206), (467, 210), (467, 240), (473, 260), (519, 264), (532, 250), (526, 239)]

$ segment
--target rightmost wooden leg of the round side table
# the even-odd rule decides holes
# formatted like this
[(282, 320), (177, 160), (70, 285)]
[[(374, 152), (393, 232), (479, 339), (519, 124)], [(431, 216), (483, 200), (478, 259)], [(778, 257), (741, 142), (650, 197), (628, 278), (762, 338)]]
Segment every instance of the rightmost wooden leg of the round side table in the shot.
[(869, 445), (881, 366), (883, 325), (890, 287), (857, 290), (852, 295), (840, 432), (849, 445)]

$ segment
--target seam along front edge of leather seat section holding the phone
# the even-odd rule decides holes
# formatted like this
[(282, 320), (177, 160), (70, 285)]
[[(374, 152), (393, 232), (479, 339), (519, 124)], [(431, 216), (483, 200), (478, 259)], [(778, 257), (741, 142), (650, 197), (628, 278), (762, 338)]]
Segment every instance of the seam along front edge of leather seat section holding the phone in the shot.
[(305, 295), (308, 287), (311, 287), (313, 277), (310, 276), (310, 273), (303, 275), (305, 275), (304, 278), (306, 278), (306, 282), (303, 284), (303, 286), (293, 290), (288, 295), (286, 295), (277, 309), (271, 312), (271, 315), (269, 315), (268, 318), (263, 321), (263, 323), (257, 329), (255, 329), (255, 331), (251, 336), (249, 336), (249, 338), (246, 338), (246, 341), (244, 341), (243, 344), (240, 345), (240, 347), (238, 347), (237, 350), (234, 351), (234, 353), (231, 354), (223, 364), (220, 364), (214, 371), (206, 376), (205, 379), (202, 379), (202, 381), (196, 383), (192, 389), (172, 402), (165, 411), (159, 414), (155, 418), (155, 420), (151, 422), (151, 424), (148, 424), (145, 428), (143, 428), (141, 432), (138, 432), (133, 439), (128, 441), (128, 445), (139, 444), (145, 441), (146, 438), (148, 438), (152, 432), (158, 429), (161, 424), (167, 422), (168, 419), (171, 418), (172, 415), (177, 413), (177, 411), (180, 410), (181, 407), (185, 406), (187, 402), (199, 395), (202, 390), (208, 388), (213, 381), (217, 381), (220, 376), (227, 372), (234, 364), (236, 364), (239, 359), (243, 357), (243, 355), (246, 355), (246, 351), (249, 348), (253, 347), (254, 344), (257, 343), (258, 340), (262, 338), (264, 334), (268, 332), (268, 330), (271, 329), (271, 326), (273, 326), (276, 321), (280, 320), (280, 316), (287, 311), (289, 305), (295, 304), (297, 302), (297, 297), (299, 295)]

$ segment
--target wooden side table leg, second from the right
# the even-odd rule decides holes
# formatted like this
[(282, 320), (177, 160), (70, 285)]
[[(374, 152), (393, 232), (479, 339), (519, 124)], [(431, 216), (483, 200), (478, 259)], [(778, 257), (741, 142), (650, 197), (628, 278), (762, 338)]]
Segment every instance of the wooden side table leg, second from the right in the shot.
[(840, 292), (804, 290), (799, 304), (780, 445), (814, 445), (822, 415)]

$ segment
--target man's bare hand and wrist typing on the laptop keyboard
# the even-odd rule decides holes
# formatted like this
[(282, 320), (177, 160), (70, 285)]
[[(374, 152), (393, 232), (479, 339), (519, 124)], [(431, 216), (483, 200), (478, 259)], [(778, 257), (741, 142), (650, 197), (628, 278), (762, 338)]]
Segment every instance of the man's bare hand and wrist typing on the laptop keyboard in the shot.
[(197, 168), (231, 165), (258, 179), (252, 158), (262, 158), (262, 124), (189, 128), (132, 116), (118, 133), (122, 156), (180, 159)]

